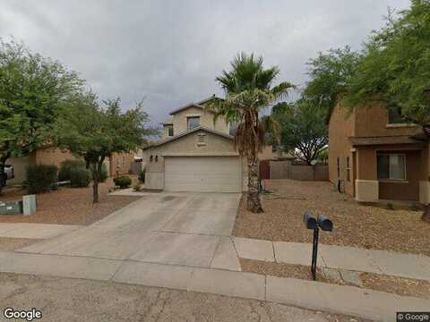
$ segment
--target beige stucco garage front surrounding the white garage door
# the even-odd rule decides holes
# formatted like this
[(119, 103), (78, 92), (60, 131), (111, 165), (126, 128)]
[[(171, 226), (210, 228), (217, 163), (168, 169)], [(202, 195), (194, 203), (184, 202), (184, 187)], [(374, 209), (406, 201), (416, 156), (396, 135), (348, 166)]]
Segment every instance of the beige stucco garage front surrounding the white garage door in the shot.
[[(199, 142), (200, 135), (204, 135), (204, 143)], [(145, 149), (145, 188), (164, 188), (164, 157), (165, 156), (238, 156), (233, 140), (206, 131), (195, 131), (182, 138), (173, 140), (159, 147)], [(150, 157), (152, 156), (152, 162)], [(157, 161), (156, 160), (157, 157)], [(247, 184), (247, 166), (243, 159), (244, 191)]]

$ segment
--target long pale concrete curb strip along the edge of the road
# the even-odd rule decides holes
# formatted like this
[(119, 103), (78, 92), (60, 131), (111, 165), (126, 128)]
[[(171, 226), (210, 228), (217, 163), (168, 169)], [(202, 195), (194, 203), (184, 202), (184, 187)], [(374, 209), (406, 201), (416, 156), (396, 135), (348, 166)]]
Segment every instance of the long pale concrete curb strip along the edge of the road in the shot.
[(396, 311), (430, 308), (430, 300), (352, 286), (134, 260), (0, 252), (0, 271), (208, 292), (383, 321), (395, 320)]

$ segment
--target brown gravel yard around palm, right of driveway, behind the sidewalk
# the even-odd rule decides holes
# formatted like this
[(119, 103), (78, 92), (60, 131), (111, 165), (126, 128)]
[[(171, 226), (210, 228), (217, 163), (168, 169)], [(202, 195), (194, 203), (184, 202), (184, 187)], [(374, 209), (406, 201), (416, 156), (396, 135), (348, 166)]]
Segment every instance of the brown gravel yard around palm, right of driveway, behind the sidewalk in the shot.
[(354, 199), (333, 191), (330, 182), (267, 180), (262, 195), (264, 213), (245, 209), (243, 197), (233, 234), (237, 237), (283, 242), (312, 242), (303, 214), (324, 214), (334, 231), (320, 233), (320, 242), (374, 250), (395, 250), (430, 256), (430, 225), (421, 211), (388, 210), (358, 205)]

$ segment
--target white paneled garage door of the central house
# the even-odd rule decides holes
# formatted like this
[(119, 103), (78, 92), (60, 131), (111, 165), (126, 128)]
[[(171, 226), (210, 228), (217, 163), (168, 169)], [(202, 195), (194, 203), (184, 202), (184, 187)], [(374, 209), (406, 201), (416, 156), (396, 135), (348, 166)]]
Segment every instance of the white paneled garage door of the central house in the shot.
[(239, 157), (165, 157), (167, 191), (240, 192)]

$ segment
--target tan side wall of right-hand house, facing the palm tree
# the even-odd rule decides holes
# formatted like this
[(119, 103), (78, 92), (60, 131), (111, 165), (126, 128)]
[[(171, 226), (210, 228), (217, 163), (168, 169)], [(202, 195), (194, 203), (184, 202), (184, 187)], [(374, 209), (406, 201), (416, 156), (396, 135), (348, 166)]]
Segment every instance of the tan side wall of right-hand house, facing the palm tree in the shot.
[[(333, 183), (338, 181), (337, 159), (340, 160), (340, 180), (342, 187), (349, 195), (354, 194), (353, 182), (353, 155), (352, 146), (348, 137), (354, 135), (355, 115), (338, 105), (335, 106), (329, 123), (329, 180)], [(347, 181), (347, 157), (350, 165), (350, 181)]]

